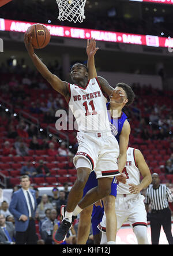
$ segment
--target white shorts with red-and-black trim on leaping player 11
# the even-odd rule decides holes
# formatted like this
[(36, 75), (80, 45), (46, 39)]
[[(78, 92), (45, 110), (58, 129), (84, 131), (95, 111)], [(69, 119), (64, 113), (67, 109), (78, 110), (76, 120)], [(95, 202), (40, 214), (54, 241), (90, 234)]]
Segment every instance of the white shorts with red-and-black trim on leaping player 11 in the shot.
[(89, 161), (91, 170), (95, 170), (97, 179), (120, 175), (117, 165), (119, 145), (111, 131), (78, 132), (77, 140), (78, 150), (73, 158), (74, 166), (79, 157), (84, 157)]

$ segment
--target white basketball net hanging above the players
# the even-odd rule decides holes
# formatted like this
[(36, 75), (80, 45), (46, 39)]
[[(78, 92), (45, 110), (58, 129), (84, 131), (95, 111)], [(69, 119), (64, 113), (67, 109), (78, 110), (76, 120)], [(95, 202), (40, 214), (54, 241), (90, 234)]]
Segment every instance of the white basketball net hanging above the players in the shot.
[(86, 0), (57, 0), (59, 8), (58, 20), (82, 22), (85, 18), (84, 7)]

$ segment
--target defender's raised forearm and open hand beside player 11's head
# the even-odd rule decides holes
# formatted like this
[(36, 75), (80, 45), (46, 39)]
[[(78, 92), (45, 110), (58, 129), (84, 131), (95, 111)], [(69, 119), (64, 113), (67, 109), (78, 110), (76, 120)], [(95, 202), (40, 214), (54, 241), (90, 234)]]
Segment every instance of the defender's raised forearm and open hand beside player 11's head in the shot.
[(97, 71), (95, 67), (95, 54), (98, 49), (98, 47), (96, 48), (95, 39), (91, 38), (91, 40), (87, 40), (86, 53), (88, 55), (88, 80), (97, 76)]

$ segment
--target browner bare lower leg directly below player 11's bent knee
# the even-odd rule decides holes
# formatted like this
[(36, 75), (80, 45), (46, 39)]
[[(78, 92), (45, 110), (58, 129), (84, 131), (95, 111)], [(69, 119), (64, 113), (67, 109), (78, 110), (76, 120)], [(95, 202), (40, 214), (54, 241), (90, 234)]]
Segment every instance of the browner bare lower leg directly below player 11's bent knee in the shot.
[(80, 220), (78, 223), (77, 231), (77, 244), (86, 244), (89, 236), (89, 231), (91, 228), (91, 214), (93, 210), (93, 205), (86, 207), (80, 213)]

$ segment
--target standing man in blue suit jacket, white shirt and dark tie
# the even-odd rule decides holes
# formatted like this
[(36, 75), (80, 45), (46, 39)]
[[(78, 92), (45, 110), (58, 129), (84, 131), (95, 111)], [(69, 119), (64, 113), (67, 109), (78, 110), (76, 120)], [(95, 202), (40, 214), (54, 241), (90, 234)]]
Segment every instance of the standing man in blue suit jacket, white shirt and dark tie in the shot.
[(35, 190), (29, 189), (28, 175), (21, 176), (21, 189), (14, 192), (9, 211), (15, 219), (16, 244), (36, 244), (36, 196)]

